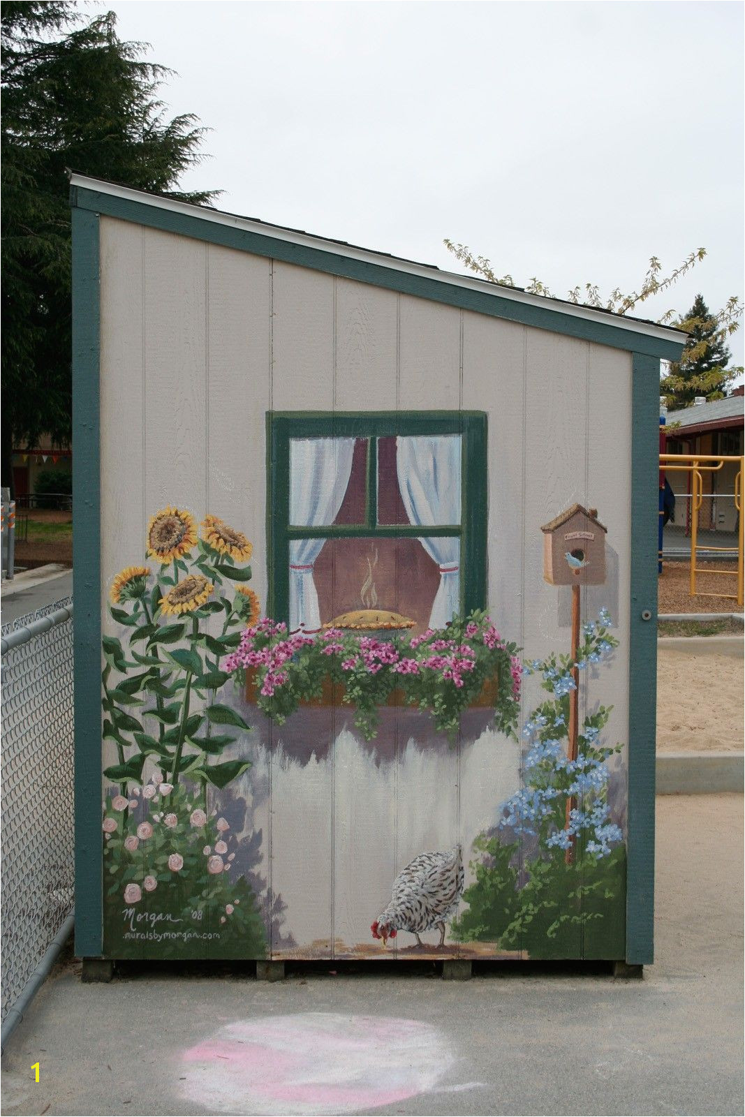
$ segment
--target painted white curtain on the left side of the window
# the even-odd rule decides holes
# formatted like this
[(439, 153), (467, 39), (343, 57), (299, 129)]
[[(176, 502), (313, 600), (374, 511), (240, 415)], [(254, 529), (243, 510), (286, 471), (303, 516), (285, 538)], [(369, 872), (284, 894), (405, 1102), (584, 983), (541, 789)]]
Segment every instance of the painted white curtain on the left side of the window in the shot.
[[(294, 527), (333, 524), (352, 471), (353, 438), (294, 438), (289, 443), (289, 522)], [(289, 630), (321, 628), (313, 564), (325, 540), (290, 540)]]

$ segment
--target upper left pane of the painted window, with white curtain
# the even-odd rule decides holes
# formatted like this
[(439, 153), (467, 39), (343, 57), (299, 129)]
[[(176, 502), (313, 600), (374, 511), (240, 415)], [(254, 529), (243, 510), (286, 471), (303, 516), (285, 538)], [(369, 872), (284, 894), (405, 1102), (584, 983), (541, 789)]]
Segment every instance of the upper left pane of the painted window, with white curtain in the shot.
[(364, 523), (365, 476), (364, 439), (290, 439), (290, 524), (318, 527)]

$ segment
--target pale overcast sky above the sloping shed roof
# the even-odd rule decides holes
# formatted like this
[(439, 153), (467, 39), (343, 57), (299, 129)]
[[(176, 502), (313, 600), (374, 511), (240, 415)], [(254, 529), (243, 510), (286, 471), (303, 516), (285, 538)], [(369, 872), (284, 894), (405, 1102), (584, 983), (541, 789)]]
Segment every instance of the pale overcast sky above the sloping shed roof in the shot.
[(221, 209), (461, 270), (450, 237), (561, 297), (704, 246), (640, 316), (743, 294), (738, 0), (105, 7), (212, 128), (182, 185)]

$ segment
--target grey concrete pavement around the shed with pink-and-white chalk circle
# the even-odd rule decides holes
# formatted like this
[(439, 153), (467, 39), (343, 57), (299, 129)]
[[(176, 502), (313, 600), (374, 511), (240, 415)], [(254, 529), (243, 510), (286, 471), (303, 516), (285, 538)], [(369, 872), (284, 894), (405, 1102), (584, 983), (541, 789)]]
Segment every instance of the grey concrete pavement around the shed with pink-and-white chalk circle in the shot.
[(68, 961), (8, 1046), (2, 1113), (742, 1114), (742, 795), (658, 800), (643, 981), (132, 965), (82, 985)]

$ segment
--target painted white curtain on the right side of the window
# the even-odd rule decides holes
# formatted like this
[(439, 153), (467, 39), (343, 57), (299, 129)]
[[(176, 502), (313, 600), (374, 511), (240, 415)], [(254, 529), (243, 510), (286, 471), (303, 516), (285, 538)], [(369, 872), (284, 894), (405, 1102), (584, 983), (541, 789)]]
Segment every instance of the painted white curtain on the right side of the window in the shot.
[[(411, 524), (460, 523), (460, 435), (397, 439), (399, 489)], [(430, 628), (445, 628), (460, 611), (460, 540), (420, 540), (440, 567)]]

